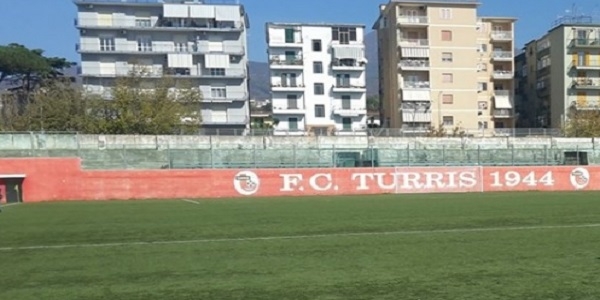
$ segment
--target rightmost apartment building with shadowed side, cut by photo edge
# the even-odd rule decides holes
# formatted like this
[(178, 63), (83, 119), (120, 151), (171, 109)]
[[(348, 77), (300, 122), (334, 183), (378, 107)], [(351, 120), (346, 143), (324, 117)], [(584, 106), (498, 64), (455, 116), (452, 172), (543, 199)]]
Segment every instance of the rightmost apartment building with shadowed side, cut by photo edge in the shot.
[(517, 59), (520, 126), (560, 129), (574, 109), (600, 107), (600, 20), (561, 17)]

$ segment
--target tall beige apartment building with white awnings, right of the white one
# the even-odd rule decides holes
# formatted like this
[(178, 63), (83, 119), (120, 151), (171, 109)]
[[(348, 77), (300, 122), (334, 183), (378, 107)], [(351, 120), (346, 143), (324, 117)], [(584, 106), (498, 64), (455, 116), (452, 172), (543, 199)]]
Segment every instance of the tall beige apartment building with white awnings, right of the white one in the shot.
[(391, 0), (379, 41), (384, 127), (512, 128), (514, 18), (478, 17), (477, 0)]

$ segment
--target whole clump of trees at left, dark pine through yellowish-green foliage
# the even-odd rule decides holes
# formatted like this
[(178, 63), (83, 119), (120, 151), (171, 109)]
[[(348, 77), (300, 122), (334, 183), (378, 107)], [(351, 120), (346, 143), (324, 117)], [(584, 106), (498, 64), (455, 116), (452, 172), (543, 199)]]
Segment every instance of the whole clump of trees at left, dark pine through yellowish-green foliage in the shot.
[(202, 95), (184, 79), (149, 78), (134, 69), (115, 79), (109, 99), (62, 77), (72, 63), (22, 45), (0, 46), (0, 82), (19, 88), (0, 95), (0, 130), (90, 134), (197, 132)]

